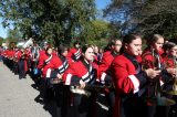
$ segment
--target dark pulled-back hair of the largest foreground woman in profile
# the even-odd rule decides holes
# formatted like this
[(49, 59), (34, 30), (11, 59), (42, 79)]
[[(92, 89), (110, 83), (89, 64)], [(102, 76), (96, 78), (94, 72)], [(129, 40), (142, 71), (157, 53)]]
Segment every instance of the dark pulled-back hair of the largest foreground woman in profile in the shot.
[(135, 34), (135, 33), (126, 34), (125, 36), (123, 36), (123, 47), (121, 47), (119, 53), (124, 53), (125, 44), (129, 44), (129, 43), (132, 43), (133, 40), (136, 40), (138, 38), (142, 39), (142, 36), (139, 34)]

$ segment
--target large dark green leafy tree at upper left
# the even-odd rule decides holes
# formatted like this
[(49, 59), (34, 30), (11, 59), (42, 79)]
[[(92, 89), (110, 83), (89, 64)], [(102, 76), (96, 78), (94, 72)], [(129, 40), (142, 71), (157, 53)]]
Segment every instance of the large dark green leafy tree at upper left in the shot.
[(61, 39), (88, 30), (96, 13), (94, 0), (1, 0), (0, 15), (3, 26), (14, 25), (23, 38), (51, 40), (59, 45)]

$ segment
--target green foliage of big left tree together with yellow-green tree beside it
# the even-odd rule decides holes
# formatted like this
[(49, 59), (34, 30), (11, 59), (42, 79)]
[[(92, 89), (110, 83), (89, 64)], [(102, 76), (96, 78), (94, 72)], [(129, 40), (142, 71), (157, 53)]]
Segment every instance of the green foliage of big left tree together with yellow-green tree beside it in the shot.
[(58, 46), (71, 45), (77, 39), (82, 43), (105, 45), (107, 39), (119, 38), (121, 22), (96, 20), (96, 13), (95, 0), (1, 0), (0, 3), (3, 26), (14, 26), (8, 35), (10, 42), (33, 38)]

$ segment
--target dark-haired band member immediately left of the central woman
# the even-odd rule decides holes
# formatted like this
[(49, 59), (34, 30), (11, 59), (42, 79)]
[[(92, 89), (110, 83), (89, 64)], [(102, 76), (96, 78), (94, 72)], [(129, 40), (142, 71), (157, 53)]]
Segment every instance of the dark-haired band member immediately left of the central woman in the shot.
[(69, 99), (69, 91), (62, 83), (62, 76), (64, 72), (69, 68), (69, 63), (66, 60), (69, 49), (66, 46), (60, 46), (59, 55), (53, 56), (51, 62), (45, 65), (43, 68), (43, 73), (45, 75), (49, 88), (53, 91), (56, 106), (58, 106), (58, 115), (61, 117), (66, 116), (66, 110), (69, 107), (67, 99)]

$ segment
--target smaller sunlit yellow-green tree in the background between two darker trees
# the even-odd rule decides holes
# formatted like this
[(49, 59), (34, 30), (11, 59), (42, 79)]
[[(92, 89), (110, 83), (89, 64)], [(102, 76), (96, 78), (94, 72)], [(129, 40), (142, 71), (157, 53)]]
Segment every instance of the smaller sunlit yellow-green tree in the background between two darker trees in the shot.
[(117, 39), (121, 35), (119, 24), (116, 22), (108, 22), (104, 20), (93, 20), (91, 22), (90, 30), (86, 30), (84, 38), (86, 38), (84, 43), (96, 44), (98, 46), (104, 46), (107, 44), (108, 40)]

